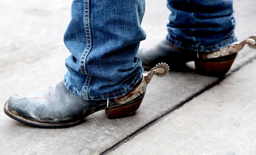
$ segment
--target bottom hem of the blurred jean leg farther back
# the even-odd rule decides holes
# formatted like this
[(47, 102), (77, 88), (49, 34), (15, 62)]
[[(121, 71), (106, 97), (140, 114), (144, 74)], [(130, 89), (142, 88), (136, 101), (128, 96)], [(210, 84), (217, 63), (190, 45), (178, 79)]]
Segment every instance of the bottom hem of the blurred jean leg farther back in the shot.
[(166, 39), (170, 44), (182, 48), (185, 50), (191, 50), (191, 51), (197, 51), (197, 52), (211, 52), (211, 51), (216, 51), (219, 50), (220, 48), (227, 47), (235, 42), (238, 42), (237, 37), (233, 37), (232, 39), (225, 39), (221, 42), (217, 42), (214, 45), (209, 45), (209, 46), (204, 46), (204, 45), (199, 45), (199, 44), (184, 44), (183, 42), (180, 42), (174, 38), (171, 38), (169, 34), (167, 34)]

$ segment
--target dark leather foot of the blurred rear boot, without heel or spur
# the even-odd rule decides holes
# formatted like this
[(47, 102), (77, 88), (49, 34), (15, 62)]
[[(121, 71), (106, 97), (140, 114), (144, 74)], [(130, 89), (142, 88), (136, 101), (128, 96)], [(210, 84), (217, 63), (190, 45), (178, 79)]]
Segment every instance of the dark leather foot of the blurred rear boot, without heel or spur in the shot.
[(186, 68), (186, 62), (197, 58), (195, 51), (176, 48), (166, 39), (163, 39), (153, 48), (140, 47), (137, 54), (140, 56), (145, 70), (150, 70), (158, 62), (166, 62), (172, 66), (172, 70), (183, 70)]

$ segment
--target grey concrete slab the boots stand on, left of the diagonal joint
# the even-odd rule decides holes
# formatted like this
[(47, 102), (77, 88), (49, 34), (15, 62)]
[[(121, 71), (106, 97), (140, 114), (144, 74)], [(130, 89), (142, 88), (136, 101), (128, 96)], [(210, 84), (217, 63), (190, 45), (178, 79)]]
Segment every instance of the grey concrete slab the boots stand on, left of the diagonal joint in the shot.
[[(253, 4), (241, 5), (249, 2), (256, 4), (236, 1), (236, 8), (243, 16), (254, 11)], [(66, 72), (64, 60), (69, 55), (62, 40), (70, 20), (71, 3), (72, 0), (0, 0), (0, 109), (14, 93), (43, 91), (62, 79)], [(165, 3), (165, 0), (146, 0), (145, 43), (166, 35), (170, 12)], [(237, 29), (238, 36), (256, 32), (252, 16), (237, 17), (238, 27), (244, 28)], [(240, 55), (234, 67), (256, 54), (246, 48)], [(68, 129), (29, 127), (0, 110), (0, 154), (100, 154), (217, 80), (191, 72), (172, 72), (168, 77), (153, 79), (135, 116), (108, 120), (101, 111)]]

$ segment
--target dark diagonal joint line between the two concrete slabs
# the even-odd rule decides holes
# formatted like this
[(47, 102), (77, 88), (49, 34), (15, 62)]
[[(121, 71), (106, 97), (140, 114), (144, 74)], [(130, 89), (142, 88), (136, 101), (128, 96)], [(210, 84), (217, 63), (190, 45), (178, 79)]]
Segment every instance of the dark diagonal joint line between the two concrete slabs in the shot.
[(204, 93), (207, 90), (210, 90), (212, 87), (220, 84), (224, 79), (227, 79), (229, 76), (231, 76), (233, 73), (235, 73), (236, 71), (240, 70), (241, 68), (244, 68), (244, 66), (246, 66), (247, 64), (253, 62), (253, 60), (256, 59), (256, 55), (249, 58), (247, 61), (244, 61), (243, 63), (241, 63), (241, 65), (238, 65), (238, 67), (232, 69), (229, 71), (229, 73), (227, 73), (225, 76), (219, 78), (216, 82), (213, 82), (210, 85), (207, 85), (206, 87), (204, 87), (202, 90), (199, 90), (197, 93), (192, 94), (190, 97), (188, 97), (187, 99), (183, 100), (180, 102), (180, 104), (177, 104), (175, 106), (173, 106), (172, 108), (170, 108), (169, 110), (166, 111), (166, 113), (164, 113), (163, 115), (159, 116), (158, 118), (155, 118), (154, 120), (150, 121), (148, 124), (145, 124), (143, 127), (141, 127), (140, 129), (136, 130), (135, 132), (131, 133), (130, 135), (128, 135), (127, 137), (123, 138), (121, 141), (117, 142), (116, 144), (114, 144), (112, 147), (106, 149), (104, 152), (102, 152), (100, 155), (106, 155), (112, 151), (114, 151), (115, 149), (117, 149), (118, 147), (122, 146), (123, 144), (125, 144), (126, 142), (130, 141), (132, 138), (136, 137), (137, 135), (139, 135), (140, 133), (142, 133), (143, 131), (147, 130), (149, 127), (153, 126), (154, 124), (156, 124), (158, 121), (162, 120), (165, 116), (169, 115), (170, 113), (174, 112), (175, 110), (178, 110), (180, 107), (183, 107), (184, 104), (188, 103), (189, 101), (191, 101), (192, 99), (198, 97), (199, 95), (201, 95), (202, 93)]

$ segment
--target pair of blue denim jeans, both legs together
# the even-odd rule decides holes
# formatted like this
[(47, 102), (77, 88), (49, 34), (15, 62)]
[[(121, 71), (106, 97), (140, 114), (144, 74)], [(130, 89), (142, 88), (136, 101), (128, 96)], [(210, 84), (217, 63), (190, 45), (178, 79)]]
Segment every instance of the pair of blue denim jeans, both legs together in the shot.
[[(167, 39), (194, 51), (213, 51), (236, 42), (232, 0), (168, 0)], [(128, 93), (142, 76), (136, 55), (145, 32), (145, 0), (73, 0), (64, 43), (64, 85), (86, 100)]]

